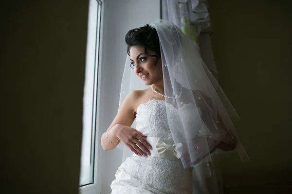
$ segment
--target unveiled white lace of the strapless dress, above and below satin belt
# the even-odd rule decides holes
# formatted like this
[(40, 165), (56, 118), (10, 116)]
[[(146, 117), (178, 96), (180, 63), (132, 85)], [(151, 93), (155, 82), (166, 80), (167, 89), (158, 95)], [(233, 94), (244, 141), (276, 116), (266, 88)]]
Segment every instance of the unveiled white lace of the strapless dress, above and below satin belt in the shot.
[[(171, 140), (165, 101), (149, 100), (137, 108), (136, 129), (148, 137)], [(153, 150), (155, 145), (151, 145)], [(191, 194), (192, 169), (182, 162), (156, 157), (131, 156), (121, 164), (110, 187), (111, 194)]]

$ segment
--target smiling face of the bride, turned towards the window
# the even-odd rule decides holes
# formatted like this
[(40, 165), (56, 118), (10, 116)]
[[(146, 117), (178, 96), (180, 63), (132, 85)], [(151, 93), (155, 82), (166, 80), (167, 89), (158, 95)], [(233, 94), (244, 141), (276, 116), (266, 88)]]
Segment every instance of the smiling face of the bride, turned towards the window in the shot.
[(129, 51), (131, 67), (146, 85), (163, 82), (161, 59), (155, 52), (147, 50), (146, 54), (144, 47), (141, 46), (132, 46)]

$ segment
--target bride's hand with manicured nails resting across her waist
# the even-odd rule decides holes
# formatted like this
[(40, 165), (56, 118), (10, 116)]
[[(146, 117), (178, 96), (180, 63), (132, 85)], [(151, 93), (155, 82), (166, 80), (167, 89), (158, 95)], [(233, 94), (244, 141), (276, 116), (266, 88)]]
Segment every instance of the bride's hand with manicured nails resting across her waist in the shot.
[(145, 157), (150, 155), (149, 149), (152, 149), (152, 146), (146, 141), (146, 135), (137, 129), (124, 125), (116, 125), (114, 130), (115, 135), (120, 141), (128, 146), (136, 155)]

